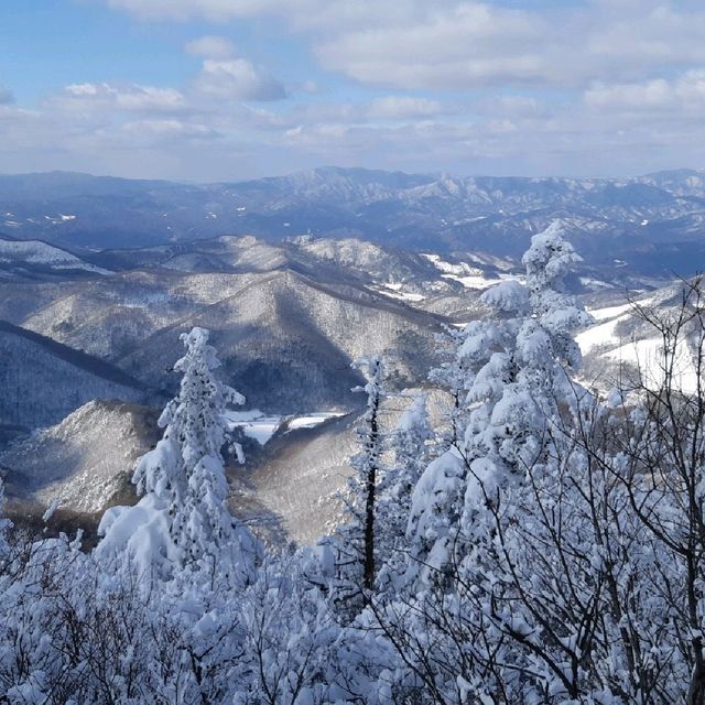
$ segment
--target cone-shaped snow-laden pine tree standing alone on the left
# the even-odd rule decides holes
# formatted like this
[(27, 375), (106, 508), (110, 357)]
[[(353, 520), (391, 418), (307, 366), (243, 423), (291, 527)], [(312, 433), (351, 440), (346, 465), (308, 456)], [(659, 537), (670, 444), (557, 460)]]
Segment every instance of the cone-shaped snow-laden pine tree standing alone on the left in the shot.
[(226, 406), (245, 398), (215, 376), (220, 362), (208, 335), (195, 327), (181, 336), (186, 354), (174, 365), (183, 373), (180, 392), (160, 416), (162, 440), (138, 462), (132, 478), (143, 497), (133, 508), (106, 512), (99, 554), (127, 549), (142, 568), (162, 573), (170, 565), (235, 565), (245, 574), (253, 560), (256, 542), (227, 507), (221, 455)]

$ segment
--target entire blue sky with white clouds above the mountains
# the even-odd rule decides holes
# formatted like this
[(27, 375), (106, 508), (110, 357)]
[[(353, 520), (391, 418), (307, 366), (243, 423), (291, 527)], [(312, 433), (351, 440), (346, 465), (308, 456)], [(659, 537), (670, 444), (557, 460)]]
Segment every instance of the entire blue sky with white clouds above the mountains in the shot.
[(2, 0), (0, 172), (705, 167), (703, 0)]

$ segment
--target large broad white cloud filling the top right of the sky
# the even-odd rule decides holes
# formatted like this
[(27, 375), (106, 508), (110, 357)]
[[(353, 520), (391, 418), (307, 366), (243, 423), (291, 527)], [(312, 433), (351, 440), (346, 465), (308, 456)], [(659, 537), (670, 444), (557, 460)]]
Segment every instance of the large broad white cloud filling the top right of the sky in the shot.
[(705, 62), (702, 0), (105, 1), (160, 20), (281, 18), (324, 68), (398, 90), (574, 88)]

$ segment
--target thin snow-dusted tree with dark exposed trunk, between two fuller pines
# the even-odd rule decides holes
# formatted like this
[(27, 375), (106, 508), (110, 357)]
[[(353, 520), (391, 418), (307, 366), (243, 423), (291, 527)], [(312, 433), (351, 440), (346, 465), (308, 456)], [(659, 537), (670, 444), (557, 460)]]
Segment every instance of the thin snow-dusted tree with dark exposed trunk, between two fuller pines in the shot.
[(347, 523), (340, 527), (334, 539), (335, 588), (338, 599), (352, 603), (375, 589), (378, 557), (378, 492), (384, 473), (382, 455), (386, 438), (380, 425), (384, 389), (384, 364), (372, 356), (354, 362), (352, 367), (365, 370), (367, 383), (352, 391), (367, 394), (366, 411), (357, 429), (359, 453), (350, 464), (355, 473), (349, 479), (346, 497)]

